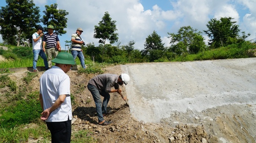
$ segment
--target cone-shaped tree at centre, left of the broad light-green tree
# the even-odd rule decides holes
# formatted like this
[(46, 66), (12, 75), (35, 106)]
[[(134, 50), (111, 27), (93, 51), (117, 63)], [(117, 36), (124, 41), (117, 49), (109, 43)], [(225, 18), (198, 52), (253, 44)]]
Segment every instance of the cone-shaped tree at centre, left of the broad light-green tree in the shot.
[(162, 39), (156, 31), (153, 31), (151, 35), (147, 36), (144, 47), (142, 55), (150, 58), (150, 62), (161, 58), (163, 54), (162, 51), (165, 50), (164, 43), (162, 43)]

